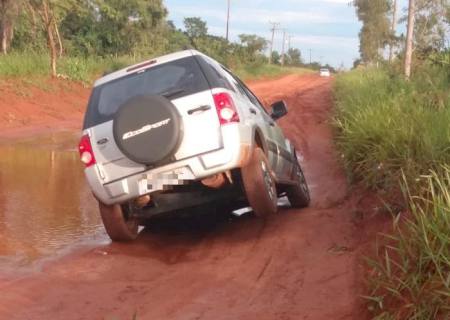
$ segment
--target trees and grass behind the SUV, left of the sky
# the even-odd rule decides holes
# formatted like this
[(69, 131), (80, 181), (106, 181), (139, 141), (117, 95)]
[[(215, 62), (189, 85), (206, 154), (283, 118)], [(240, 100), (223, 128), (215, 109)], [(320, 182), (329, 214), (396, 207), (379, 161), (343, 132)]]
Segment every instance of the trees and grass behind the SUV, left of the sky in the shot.
[[(208, 33), (199, 17), (184, 29), (167, 20), (162, 0), (3, 0), (0, 6), (0, 76), (63, 77), (90, 82), (105, 71), (193, 48), (244, 78), (290, 72), (268, 65), (267, 41), (241, 34), (239, 42)], [(285, 66), (302, 66), (292, 48)]]

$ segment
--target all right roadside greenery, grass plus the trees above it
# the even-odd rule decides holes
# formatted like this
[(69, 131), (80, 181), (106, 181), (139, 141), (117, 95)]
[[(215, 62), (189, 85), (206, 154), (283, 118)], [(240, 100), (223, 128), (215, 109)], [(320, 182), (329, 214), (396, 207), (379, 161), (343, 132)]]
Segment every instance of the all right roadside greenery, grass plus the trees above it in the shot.
[(374, 319), (450, 319), (450, 2), (408, 2), (353, 1), (363, 67), (336, 80), (336, 143), (350, 180), (394, 215), (368, 260)]

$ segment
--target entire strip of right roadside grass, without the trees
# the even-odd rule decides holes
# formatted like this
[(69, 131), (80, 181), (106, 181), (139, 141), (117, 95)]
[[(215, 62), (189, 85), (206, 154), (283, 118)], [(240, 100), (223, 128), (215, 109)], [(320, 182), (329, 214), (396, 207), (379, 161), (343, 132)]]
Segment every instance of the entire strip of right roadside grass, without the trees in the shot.
[[(336, 80), (336, 143), (352, 182), (407, 204), (369, 259), (374, 319), (450, 319), (450, 74), (384, 69)], [(389, 199), (388, 201), (397, 201)]]

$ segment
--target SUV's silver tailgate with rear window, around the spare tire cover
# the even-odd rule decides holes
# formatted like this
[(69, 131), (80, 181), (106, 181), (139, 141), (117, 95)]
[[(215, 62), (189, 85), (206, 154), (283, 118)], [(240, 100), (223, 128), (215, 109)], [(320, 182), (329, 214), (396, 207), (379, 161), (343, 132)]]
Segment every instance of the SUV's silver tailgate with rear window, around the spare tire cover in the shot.
[(163, 95), (178, 110), (183, 138), (175, 153), (176, 160), (222, 148), (211, 89), (195, 57), (155, 63), (93, 91), (84, 127), (89, 128), (104, 183), (147, 170), (145, 165), (131, 161), (119, 150), (113, 135), (114, 115), (124, 102), (138, 95)]

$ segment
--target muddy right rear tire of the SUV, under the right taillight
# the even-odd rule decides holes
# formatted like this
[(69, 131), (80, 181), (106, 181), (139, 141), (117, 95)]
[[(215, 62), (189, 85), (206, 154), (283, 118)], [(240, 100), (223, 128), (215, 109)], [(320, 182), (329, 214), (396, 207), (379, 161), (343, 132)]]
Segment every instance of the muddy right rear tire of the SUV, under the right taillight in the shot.
[(247, 200), (255, 215), (264, 217), (278, 211), (277, 189), (269, 161), (261, 148), (255, 148), (247, 166), (241, 169)]

